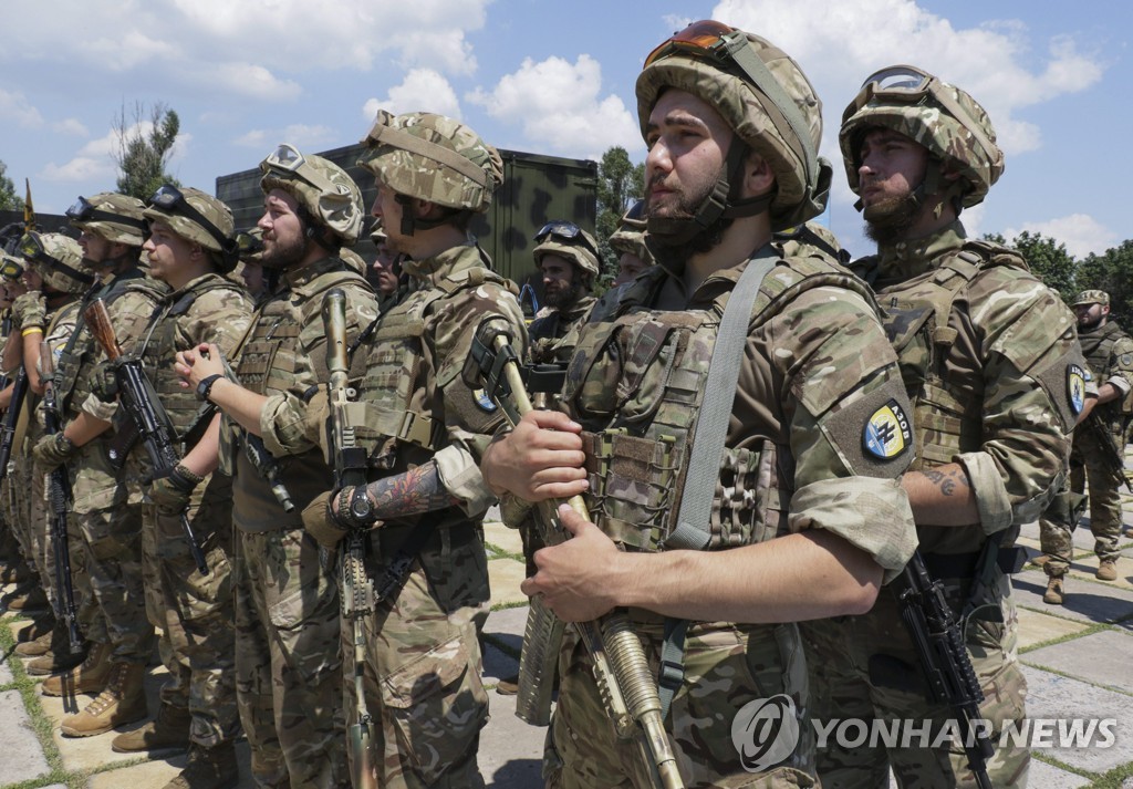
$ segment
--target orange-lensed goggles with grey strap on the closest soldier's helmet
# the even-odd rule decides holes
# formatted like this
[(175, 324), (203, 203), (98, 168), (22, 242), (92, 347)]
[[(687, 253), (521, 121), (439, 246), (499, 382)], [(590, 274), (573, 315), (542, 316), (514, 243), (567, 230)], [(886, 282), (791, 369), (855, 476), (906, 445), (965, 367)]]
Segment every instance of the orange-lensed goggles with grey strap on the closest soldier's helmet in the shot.
[[(710, 60), (725, 68), (739, 69), (750, 79), (778, 110), (778, 113), (768, 114), (774, 120), (780, 137), (791, 146), (802, 162), (807, 183), (813, 180), (813, 173), (818, 170), (816, 161), (818, 154), (809, 144), (810, 128), (775, 75), (748, 45), (747, 33), (714, 19), (693, 22), (654, 48), (645, 59), (645, 68), (674, 54)], [(776, 114), (782, 114), (782, 118)]]

